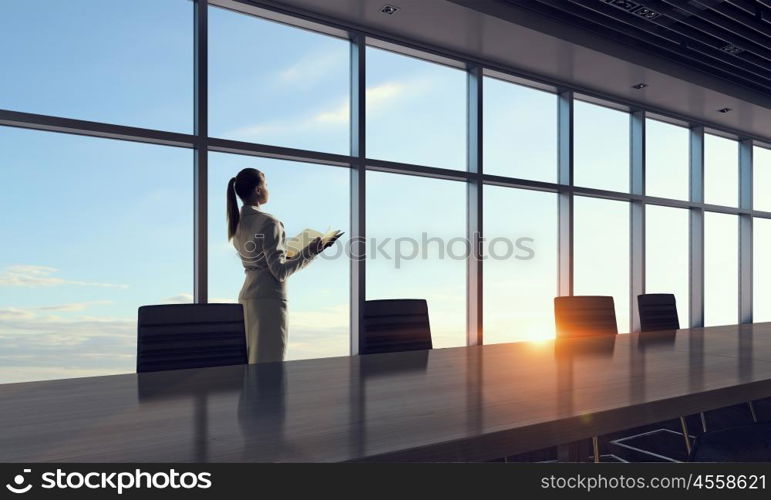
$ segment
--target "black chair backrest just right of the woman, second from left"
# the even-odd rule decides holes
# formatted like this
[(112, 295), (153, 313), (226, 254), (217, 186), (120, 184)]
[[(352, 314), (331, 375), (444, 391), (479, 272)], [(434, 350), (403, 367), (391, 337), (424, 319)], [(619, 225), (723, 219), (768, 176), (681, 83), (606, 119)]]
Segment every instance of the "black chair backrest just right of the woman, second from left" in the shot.
[(363, 326), (361, 354), (433, 347), (428, 304), (423, 299), (368, 300)]

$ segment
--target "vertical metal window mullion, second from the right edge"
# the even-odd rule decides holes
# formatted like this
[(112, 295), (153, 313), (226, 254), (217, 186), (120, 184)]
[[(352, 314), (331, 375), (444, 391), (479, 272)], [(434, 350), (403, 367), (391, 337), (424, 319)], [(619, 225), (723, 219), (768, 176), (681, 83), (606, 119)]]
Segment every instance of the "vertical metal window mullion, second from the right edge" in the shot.
[[(691, 201), (704, 203), (704, 127), (690, 132)], [(690, 321), (691, 327), (704, 326), (704, 209), (690, 209)]]

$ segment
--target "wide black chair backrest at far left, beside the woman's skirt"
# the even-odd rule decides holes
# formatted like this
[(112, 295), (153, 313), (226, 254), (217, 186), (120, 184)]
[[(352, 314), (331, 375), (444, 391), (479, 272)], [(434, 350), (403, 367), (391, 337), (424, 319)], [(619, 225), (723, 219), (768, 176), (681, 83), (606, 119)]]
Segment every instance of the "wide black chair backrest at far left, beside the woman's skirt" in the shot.
[(142, 306), (137, 372), (245, 364), (241, 304)]

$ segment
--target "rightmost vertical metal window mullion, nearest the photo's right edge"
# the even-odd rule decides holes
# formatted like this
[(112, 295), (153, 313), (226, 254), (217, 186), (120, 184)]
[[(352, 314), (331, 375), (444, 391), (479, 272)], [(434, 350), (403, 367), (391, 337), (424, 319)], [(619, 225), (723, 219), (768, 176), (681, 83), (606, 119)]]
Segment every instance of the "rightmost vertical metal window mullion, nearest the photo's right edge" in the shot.
[[(753, 207), (753, 141), (739, 142), (739, 208)], [(752, 215), (739, 215), (739, 323), (752, 323), (753, 305), (753, 220)]]

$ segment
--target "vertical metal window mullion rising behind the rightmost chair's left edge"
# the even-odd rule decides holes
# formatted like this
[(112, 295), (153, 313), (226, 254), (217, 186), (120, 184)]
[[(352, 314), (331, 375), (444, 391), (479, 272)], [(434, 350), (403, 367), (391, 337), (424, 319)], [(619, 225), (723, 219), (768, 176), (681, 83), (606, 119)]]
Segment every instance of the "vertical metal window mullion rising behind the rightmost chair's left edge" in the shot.
[[(645, 112), (638, 110), (630, 118), (629, 189), (632, 194), (645, 195)], [(632, 201), (629, 211), (629, 311), (631, 332), (640, 331), (637, 296), (645, 293), (645, 203)]]

